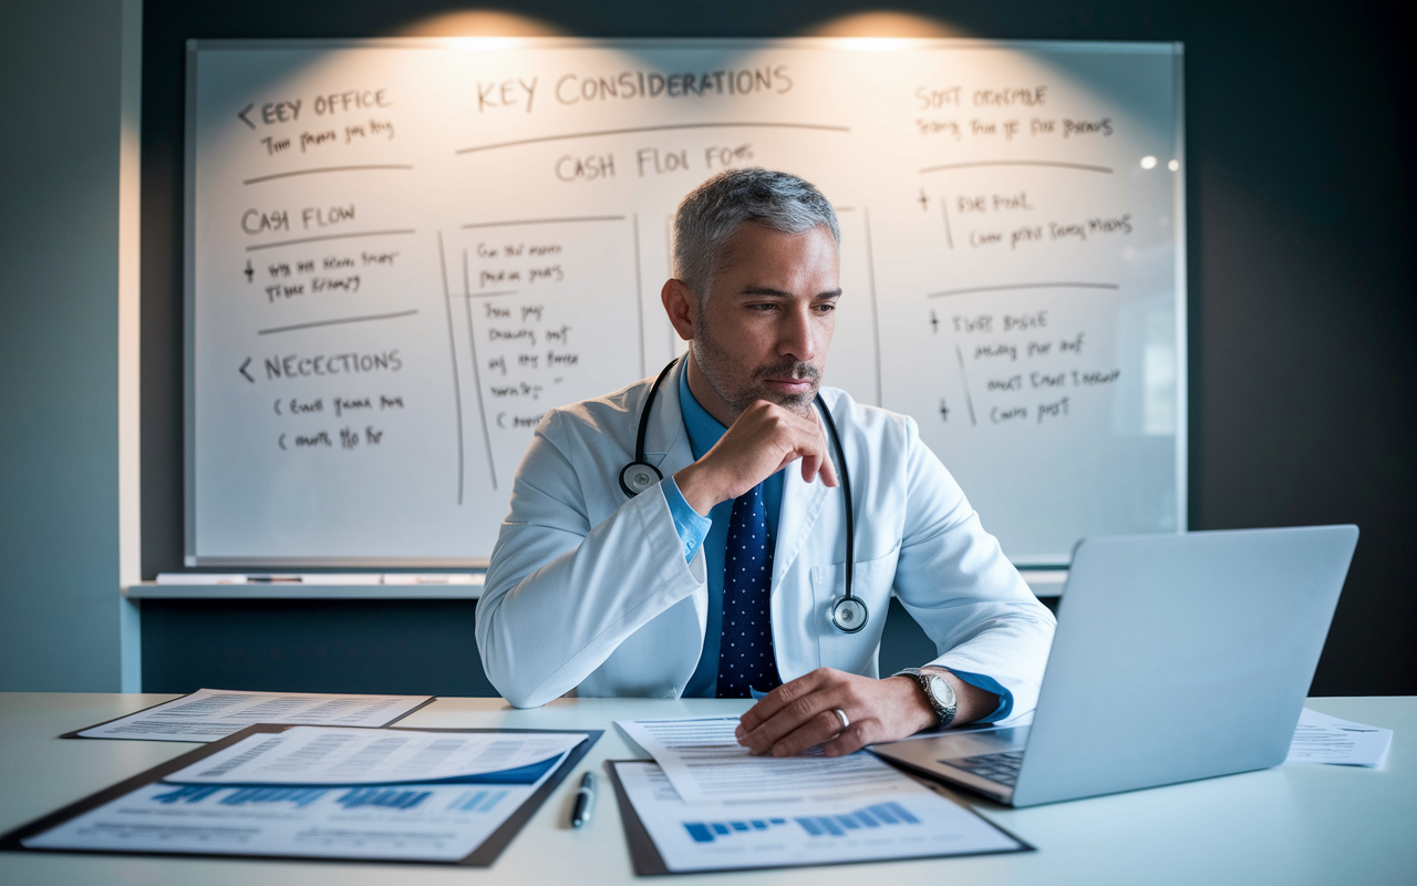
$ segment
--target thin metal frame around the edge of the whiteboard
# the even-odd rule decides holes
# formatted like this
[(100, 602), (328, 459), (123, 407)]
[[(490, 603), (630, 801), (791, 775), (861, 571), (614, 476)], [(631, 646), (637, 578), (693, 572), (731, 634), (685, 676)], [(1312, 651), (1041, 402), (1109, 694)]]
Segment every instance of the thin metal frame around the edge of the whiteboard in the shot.
[[(877, 48), (864, 48), (870, 41)], [(880, 51), (886, 44), (904, 50), (1039, 50), (1047, 52), (1129, 52), (1169, 54), (1173, 60), (1175, 133), (1173, 157), (1180, 164), (1173, 179), (1173, 248), (1176, 251), (1176, 532), (1189, 529), (1189, 441), (1190, 441), (1190, 384), (1189, 384), (1189, 293), (1186, 251), (1186, 105), (1185, 105), (1185, 44), (1180, 41), (1097, 41), (1097, 40), (981, 40), (981, 38), (921, 38), (921, 37), (367, 37), (367, 38), (290, 38), (290, 40), (187, 40), (186, 98), (183, 143), (183, 563), (217, 567), (315, 567), (315, 568), (486, 568), (489, 557), (213, 557), (198, 556), (197, 546), (197, 459), (196, 459), (196, 190), (197, 190), (197, 62), (201, 51), (222, 50), (351, 50), (351, 48), (411, 48), (411, 50), (468, 50), (487, 47), (497, 50), (536, 50), (571, 47), (628, 47), (659, 50), (693, 50), (731, 47), (789, 45), (796, 48)], [(640, 336), (643, 339), (643, 336)], [(642, 343), (643, 346), (643, 343)], [(877, 380), (879, 384), (879, 380)], [(1081, 540), (1078, 542), (1081, 543)], [(1019, 568), (1067, 568), (1070, 563), (1019, 563)]]

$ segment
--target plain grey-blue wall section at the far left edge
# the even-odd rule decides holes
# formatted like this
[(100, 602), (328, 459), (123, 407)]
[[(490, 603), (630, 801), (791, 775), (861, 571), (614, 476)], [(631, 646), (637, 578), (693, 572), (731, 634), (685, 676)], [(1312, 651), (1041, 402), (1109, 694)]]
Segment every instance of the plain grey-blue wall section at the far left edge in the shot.
[(122, 34), (0, 6), (0, 692), (120, 688)]

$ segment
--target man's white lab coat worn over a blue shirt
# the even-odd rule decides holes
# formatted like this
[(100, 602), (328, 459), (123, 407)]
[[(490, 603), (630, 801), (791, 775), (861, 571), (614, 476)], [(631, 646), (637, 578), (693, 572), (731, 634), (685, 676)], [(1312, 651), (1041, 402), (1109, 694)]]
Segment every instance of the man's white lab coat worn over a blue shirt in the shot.
[[(693, 462), (679, 411), (679, 373), (652, 405), (646, 461), (666, 478)], [(704, 554), (684, 561), (659, 486), (626, 499), (650, 381), (553, 410), (517, 469), (478, 602), (478, 648), (493, 686), (531, 707), (585, 696), (679, 697), (703, 651)], [(1013, 693), (1010, 720), (1032, 710), (1053, 639), (1033, 597), (964, 492), (920, 441), (914, 420), (822, 388), (856, 499), (852, 591), (870, 608), (857, 634), (828, 610), (845, 591), (842, 489), (786, 468), (772, 560), (772, 642), (782, 680), (819, 666), (877, 676), (876, 651), (897, 597), (934, 639), (945, 668), (992, 676)], [(927, 662), (920, 662), (921, 665)]]

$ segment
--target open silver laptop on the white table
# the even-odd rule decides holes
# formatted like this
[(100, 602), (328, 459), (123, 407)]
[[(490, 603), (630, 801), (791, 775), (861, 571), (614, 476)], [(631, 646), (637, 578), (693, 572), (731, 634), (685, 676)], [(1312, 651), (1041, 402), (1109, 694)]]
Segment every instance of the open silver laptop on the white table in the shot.
[(1013, 807), (1278, 766), (1356, 526), (1078, 543), (1029, 726), (871, 747)]

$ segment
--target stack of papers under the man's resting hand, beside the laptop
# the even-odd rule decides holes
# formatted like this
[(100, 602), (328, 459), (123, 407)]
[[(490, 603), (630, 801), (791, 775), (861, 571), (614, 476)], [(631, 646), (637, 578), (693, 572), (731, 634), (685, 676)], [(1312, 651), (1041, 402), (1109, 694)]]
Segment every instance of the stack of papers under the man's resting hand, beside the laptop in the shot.
[[(751, 757), (738, 717), (616, 723), (655, 763), (614, 773), (665, 869), (1016, 852), (1026, 843), (876, 757)], [(629, 825), (629, 822), (626, 822)], [(649, 873), (631, 845), (636, 872)]]

